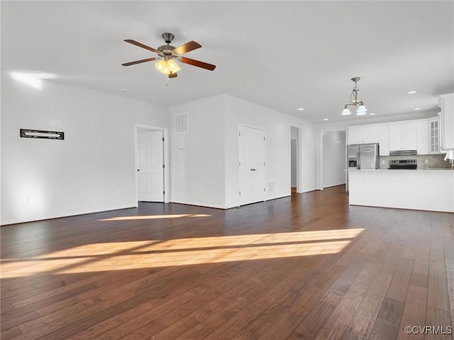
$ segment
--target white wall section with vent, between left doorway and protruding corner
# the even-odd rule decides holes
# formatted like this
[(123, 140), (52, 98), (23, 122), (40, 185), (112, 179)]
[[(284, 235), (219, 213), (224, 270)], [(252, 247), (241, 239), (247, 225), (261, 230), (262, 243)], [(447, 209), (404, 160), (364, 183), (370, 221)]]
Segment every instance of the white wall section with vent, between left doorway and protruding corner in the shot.
[[(224, 208), (223, 97), (170, 107), (170, 200)], [(189, 132), (175, 134), (175, 114), (188, 113)]]

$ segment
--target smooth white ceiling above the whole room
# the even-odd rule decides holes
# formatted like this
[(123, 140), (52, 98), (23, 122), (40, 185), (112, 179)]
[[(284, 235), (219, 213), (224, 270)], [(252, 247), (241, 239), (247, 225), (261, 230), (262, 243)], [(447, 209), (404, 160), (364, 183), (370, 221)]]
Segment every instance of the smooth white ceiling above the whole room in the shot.
[[(314, 123), (356, 118), (340, 113), (359, 76), (377, 118), (436, 113), (454, 92), (453, 24), (454, 1), (1, 1), (1, 70), (166, 106), (230, 94)], [(121, 66), (154, 56), (124, 39), (156, 48), (163, 32), (199, 42), (185, 56), (214, 72)]]

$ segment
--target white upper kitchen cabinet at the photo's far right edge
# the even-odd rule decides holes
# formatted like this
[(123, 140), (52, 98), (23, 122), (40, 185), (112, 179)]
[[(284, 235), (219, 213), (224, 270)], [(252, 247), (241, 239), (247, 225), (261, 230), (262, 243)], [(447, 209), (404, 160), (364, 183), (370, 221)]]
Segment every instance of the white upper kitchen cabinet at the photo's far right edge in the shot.
[(454, 149), (454, 94), (439, 96), (440, 115), (440, 149)]

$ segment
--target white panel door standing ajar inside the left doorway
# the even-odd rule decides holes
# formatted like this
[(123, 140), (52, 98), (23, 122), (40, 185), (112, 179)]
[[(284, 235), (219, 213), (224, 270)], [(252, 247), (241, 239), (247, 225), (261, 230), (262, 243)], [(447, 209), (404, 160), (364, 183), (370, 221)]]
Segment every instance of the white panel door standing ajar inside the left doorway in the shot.
[(138, 130), (138, 200), (164, 202), (163, 131)]

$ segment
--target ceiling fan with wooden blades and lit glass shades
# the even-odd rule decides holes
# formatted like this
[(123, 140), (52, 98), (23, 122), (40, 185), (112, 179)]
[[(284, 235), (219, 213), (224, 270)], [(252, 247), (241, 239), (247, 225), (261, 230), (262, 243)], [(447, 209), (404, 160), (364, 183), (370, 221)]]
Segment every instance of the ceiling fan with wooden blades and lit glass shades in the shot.
[(175, 60), (178, 60), (179, 62), (184, 62), (184, 64), (189, 64), (192, 66), (196, 67), (201, 67), (202, 69), (209, 69), (210, 71), (213, 71), (216, 68), (216, 65), (213, 64), (208, 64), (206, 62), (199, 62), (199, 60), (194, 60), (190, 59), (187, 57), (183, 57), (184, 53), (190, 52), (192, 50), (196, 50), (197, 48), (200, 48), (201, 45), (199, 42), (195, 41), (189, 41), (179, 47), (174, 47), (170, 45), (170, 42), (172, 42), (173, 38), (175, 38), (175, 35), (172, 33), (162, 33), (162, 38), (164, 41), (167, 43), (167, 45), (162, 45), (160, 47), (157, 47), (157, 49), (143, 45), (140, 42), (137, 42), (135, 40), (131, 39), (126, 39), (126, 42), (129, 42), (130, 44), (133, 44), (138, 47), (145, 48), (145, 50), (149, 50), (151, 52), (155, 52), (157, 54), (157, 57), (151, 57), (147, 59), (142, 59), (142, 60), (135, 60), (135, 62), (125, 62), (122, 64), (123, 66), (131, 66), (135, 64), (140, 64), (142, 62), (151, 62), (153, 60), (160, 60), (155, 64), (155, 67), (162, 73), (168, 74), (169, 78), (175, 78), (177, 77), (177, 72), (181, 69), (178, 64), (175, 62)]

